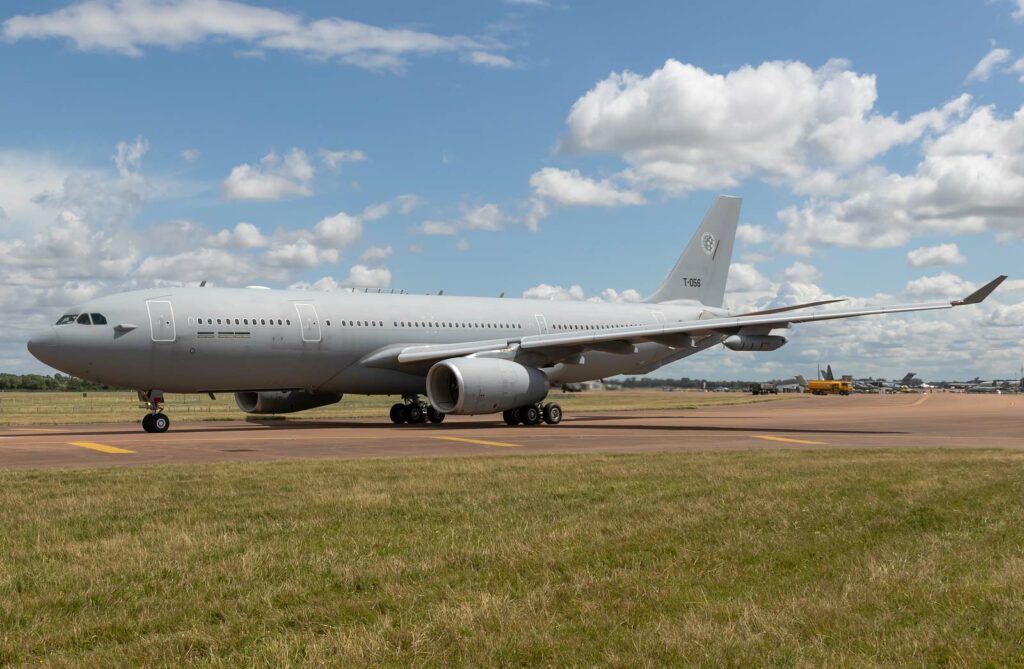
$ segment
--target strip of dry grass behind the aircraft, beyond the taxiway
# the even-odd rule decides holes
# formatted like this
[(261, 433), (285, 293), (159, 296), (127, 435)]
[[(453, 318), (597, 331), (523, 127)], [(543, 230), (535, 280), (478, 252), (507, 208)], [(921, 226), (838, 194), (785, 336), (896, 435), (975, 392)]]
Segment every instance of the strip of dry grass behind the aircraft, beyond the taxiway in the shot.
[[(566, 411), (631, 411), (639, 409), (696, 409), (699, 407), (767, 402), (788, 395), (754, 396), (742, 392), (554, 391), (551, 402)], [(339, 404), (294, 414), (295, 418), (385, 417), (399, 398), (346, 395)], [(137, 421), (144, 414), (134, 392), (0, 392), (0, 425), (103, 423)], [(168, 394), (166, 411), (177, 422), (231, 420), (246, 416), (234, 395), (216, 400), (205, 394)]]

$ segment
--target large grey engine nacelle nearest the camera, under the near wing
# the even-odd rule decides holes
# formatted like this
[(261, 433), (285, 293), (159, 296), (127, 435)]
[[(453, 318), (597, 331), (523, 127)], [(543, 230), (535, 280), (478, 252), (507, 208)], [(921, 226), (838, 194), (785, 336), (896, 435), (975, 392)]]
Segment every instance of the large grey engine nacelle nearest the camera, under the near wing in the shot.
[(496, 358), (453, 358), (427, 373), (427, 398), (444, 414), (493, 414), (548, 396), (547, 375)]

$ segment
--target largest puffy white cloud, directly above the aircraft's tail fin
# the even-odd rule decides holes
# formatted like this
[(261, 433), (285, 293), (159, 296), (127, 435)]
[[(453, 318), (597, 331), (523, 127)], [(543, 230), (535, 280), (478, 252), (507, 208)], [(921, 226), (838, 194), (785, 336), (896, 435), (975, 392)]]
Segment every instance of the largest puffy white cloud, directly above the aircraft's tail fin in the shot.
[(750, 176), (797, 183), (818, 168), (849, 170), (941, 130), (962, 96), (905, 122), (874, 109), (872, 75), (843, 60), (812, 70), (770, 61), (725, 75), (670, 59), (649, 76), (616, 73), (578, 99), (565, 153), (605, 153), (624, 178), (673, 193), (726, 189)]

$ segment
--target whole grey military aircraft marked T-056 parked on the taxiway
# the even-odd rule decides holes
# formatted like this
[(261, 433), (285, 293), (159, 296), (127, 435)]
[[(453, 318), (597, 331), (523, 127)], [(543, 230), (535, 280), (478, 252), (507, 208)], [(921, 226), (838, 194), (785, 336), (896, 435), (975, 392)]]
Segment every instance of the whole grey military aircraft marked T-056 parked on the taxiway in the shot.
[(501, 412), (509, 425), (555, 424), (562, 410), (545, 404), (552, 385), (645, 374), (718, 344), (775, 350), (786, 342), (776, 330), (795, 324), (975, 304), (1006, 279), (962, 300), (732, 313), (723, 300), (739, 207), (718, 198), (642, 303), (152, 288), (69, 309), (29, 350), (68, 374), (137, 389), (151, 432), (170, 425), (166, 391), (233, 392), (253, 414), (387, 394), (403, 398), (391, 408), (395, 423)]

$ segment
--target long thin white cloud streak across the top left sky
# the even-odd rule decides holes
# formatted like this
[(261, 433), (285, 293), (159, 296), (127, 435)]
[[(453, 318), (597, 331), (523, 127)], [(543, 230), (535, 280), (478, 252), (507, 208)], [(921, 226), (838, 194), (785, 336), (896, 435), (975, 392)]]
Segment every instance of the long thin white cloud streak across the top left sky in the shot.
[[(502, 45), (461, 35), (390, 29), (338, 17), (305, 19), (297, 13), (233, 0), (87, 0), (48, 13), (22, 14), (3, 23), (3, 37), (67, 39), (83, 51), (142, 55), (151, 46), (177, 49), (237, 41), (243, 52), (279, 50), (316, 60), (372, 70), (400, 71), (412, 55), (460, 53), (495, 67)], [(488, 57), (489, 56), (494, 56)]]

